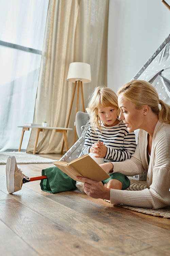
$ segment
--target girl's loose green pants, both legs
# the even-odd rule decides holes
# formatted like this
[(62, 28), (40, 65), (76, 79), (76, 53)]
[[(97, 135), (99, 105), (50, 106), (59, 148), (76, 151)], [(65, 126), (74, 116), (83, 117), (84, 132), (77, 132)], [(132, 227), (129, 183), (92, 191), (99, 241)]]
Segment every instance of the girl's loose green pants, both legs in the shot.
[[(76, 181), (70, 178), (63, 171), (58, 169), (56, 166), (46, 168), (42, 170), (42, 175), (46, 175), (46, 180), (41, 180), (40, 187), (41, 190), (46, 191), (48, 193), (59, 193), (63, 191), (68, 191), (72, 189), (76, 189), (75, 186)], [(107, 183), (111, 179), (119, 180), (122, 183), (122, 190), (128, 188), (130, 186), (130, 180), (122, 173), (112, 173), (111, 177), (104, 180), (103, 183)]]

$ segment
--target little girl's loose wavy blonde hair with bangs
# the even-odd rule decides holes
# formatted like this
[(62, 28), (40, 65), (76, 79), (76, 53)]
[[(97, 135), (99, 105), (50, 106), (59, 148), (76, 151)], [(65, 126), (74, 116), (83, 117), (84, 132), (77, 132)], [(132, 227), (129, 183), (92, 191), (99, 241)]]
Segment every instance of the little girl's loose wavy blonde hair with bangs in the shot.
[(89, 97), (88, 107), (90, 109), (90, 119), (89, 123), (91, 128), (97, 133), (96, 128), (101, 132), (101, 120), (98, 116), (98, 108), (114, 106), (117, 108), (117, 118), (120, 114), (120, 109), (118, 106), (118, 97), (116, 93), (107, 87), (98, 86), (95, 88), (92, 95)]

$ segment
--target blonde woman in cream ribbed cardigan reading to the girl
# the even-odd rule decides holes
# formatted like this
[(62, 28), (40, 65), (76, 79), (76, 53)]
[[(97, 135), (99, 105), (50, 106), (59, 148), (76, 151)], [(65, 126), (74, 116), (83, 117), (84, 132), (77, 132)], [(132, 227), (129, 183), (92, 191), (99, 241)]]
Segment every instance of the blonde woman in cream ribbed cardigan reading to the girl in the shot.
[(170, 106), (159, 100), (151, 84), (142, 80), (131, 81), (119, 89), (118, 105), (119, 119), (128, 131), (141, 129), (138, 145), (131, 159), (104, 163), (101, 167), (107, 173), (120, 172), (127, 176), (147, 171), (147, 188), (141, 191), (109, 189), (101, 182), (81, 178), (85, 182), (85, 193), (111, 200), (113, 204), (153, 209), (170, 205)]

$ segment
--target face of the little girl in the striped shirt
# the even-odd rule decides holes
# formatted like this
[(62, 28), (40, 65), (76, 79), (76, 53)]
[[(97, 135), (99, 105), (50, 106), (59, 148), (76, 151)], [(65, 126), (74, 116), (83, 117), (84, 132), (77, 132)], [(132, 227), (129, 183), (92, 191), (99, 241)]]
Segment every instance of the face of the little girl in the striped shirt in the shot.
[(119, 123), (119, 120), (117, 119), (117, 107), (115, 106), (101, 106), (98, 108), (97, 113), (105, 126), (111, 127)]

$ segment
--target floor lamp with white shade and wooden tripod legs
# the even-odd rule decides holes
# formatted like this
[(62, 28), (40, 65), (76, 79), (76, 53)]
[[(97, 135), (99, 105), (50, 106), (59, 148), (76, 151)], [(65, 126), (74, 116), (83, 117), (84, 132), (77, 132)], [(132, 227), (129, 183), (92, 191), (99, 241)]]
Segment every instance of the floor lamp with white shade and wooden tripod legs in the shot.
[[(88, 63), (84, 63), (84, 62), (72, 62), (72, 63), (70, 63), (69, 69), (68, 69), (68, 74), (67, 74), (67, 81), (74, 83), (74, 89), (73, 89), (73, 94), (72, 94), (72, 99), (71, 99), (70, 110), (69, 110), (69, 114), (68, 114), (66, 128), (68, 128), (68, 123), (69, 123), (69, 119), (70, 119), (72, 104), (73, 104), (74, 95), (75, 95), (75, 89), (76, 89), (77, 85), (78, 85), (77, 104), (76, 104), (75, 114), (77, 114), (77, 112), (78, 112), (79, 89), (80, 89), (80, 87), (81, 87), (81, 96), (82, 96), (82, 107), (83, 107), (83, 112), (85, 112), (84, 111), (84, 98), (83, 98), (83, 86), (82, 86), (82, 84), (83, 83), (86, 84), (86, 83), (91, 82), (90, 65)], [(76, 127), (74, 126), (74, 143), (75, 143), (75, 141), (76, 141)], [(64, 140), (63, 140), (63, 146), (62, 146), (61, 154), (63, 153), (63, 147), (64, 147)]]

